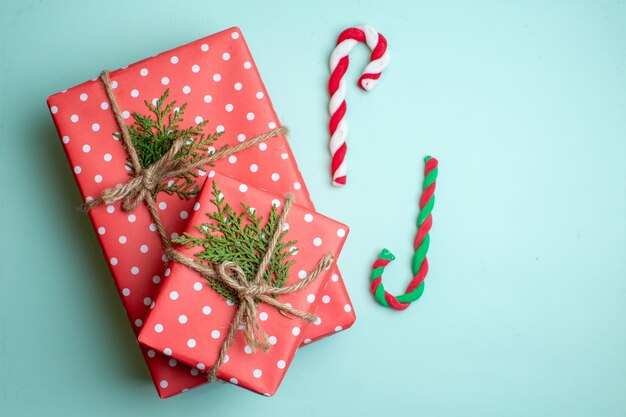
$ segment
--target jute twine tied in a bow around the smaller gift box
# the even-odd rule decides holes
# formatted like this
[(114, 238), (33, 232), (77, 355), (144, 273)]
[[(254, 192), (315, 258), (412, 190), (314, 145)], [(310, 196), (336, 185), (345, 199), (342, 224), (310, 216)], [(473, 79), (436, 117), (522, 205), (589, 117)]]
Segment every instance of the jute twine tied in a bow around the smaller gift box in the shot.
[(258, 349), (266, 352), (270, 349), (271, 344), (269, 343), (267, 333), (263, 330), (258, 321), (258, 303), (271, 305), (281, 313), (290, 314), (308, 322), (317, 320), (315, 315), (295, 309), (289, 304), (281, 303), (275, 296), (300, 291), (315, 281), (319, 274), (333, 263), (334, 257), (331, 253), (324, 255), (315, 269), (296, 284), (285, 287), (275, 287), (263, 281), (263, 275), (270, 264), (293, 201), (293, 194), (287, 194), (285, 205), (278, 219), (278, 225), (270, 239), (267, 251), (263, 255), (257, 273), (250, 280), (248, 280), (245, 273), (235, 262), (224, 261), (215, 268), (213, 265), (195, 261), (173, 248), (169, 248), (166, 251), (170, 260), (198, 272), (207, 279), (219, 281), (237, 294), (239, 307), (237, 308), (234, 320), (230, 324), (228, 335), (222, 344), (218, 359), (207, 374), (207, 378), (210, 382), (217, 378), (217, 371), (223, 364), (226, 352), (235, 339), (235, 334), (238, 329), (241, 328), (246, 343), (253, 350)]

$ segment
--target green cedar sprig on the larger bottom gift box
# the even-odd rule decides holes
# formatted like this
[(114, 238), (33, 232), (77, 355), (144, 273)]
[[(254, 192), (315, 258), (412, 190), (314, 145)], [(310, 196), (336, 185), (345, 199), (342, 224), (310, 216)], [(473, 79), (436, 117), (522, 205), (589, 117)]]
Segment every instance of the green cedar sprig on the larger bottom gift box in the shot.
[[(181, 138), (184, 145), (175, 158), (189, 160), (191, 163), (196, 162), (207, 156), (210, 147), (221, 136), (221, 133), (205, 134), (203, 132), (203, 128), (208, 123), (206, 120), (195, 126), (181, 128), (187, 103), (176, 107), (176, 100), (167, 103), (168, 97), (169, 89), (165, 90), (156, 104), (144, 101), (149, 111), (148, 114), (138, 112), (132, 114), (134, 123), (128, 127), (128, 131), (143, 168), (158, 161), (172, 144)], [(121, 139), (119, 133), (115, 136)], [(213, 164), (208, 165), (213, 166)], [(154, 190), (154, 194), (163, 191), (169, 195), (176, 194), (181, 199), (195, 197), (200, 192), (195, 181), (197, 177), (197, 172), (181, 174), (159, 185)]]

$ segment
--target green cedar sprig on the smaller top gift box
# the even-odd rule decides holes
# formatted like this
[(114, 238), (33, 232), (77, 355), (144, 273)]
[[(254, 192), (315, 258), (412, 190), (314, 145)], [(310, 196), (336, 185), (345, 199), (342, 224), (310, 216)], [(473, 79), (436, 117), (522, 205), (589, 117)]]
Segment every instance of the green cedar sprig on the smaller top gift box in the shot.
[[(237, 263), (248, 280), (252, 280), (259, 269), (259, 265), (267, 252), (269, 240), (279, 226), (279, 214), (275, 205), (269, 213), (268, 219), (263, 223), (263, 216), (258, 216), (256, 211), (240, 203), (243, 211), (235, 212), (230, 204), (224, 202), (224, 196), (217, 187), (215, 181), (212, 185), (211, 203), (215, 210), (206, 213), (211, 222), (204, 223), (195, 228), (201, 233), (200, 237), (185, 232), (183, 236), (174, 239), (175, 243), (186, 245), (187, 248), (202, 247), (203, 250), (196, 253), (198, 259), (206, 261), (209, 265), (217, 268), (224, 261)], [(287, 282), (289, 268), (294, 260), (288, 259), (296, 252), (293, 247), (297, 241), (284, 242), (286, 230), (281, 231), (278, 244), (271, 257), (269, 267), (263, 275), (263, 279), (272, 286), (282, 287)], [(238, 302), (237, 296), (220, 282), (207, 279), (209, 285), (224, 298)]]

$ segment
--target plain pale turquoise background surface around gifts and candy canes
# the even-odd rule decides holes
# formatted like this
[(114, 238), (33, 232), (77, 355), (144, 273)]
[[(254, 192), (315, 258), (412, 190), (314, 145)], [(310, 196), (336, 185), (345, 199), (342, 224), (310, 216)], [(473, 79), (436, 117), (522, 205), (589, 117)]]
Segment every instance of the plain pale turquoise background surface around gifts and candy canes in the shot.
[[(389, 39), (348, 78), (348, 186), (329, 185), (339, 32)], [(302, 349), (276, 397), (214, 384), (160, 400), (45, 99), (238, 25), (320, 212), (356, 325)], [(626, 4), (619, 1), (1, 1), (0, 415), (626, 415)], [(381, 247), (410, 279), (426, 154), (440, 160), (423, 298), (368, 292)]]

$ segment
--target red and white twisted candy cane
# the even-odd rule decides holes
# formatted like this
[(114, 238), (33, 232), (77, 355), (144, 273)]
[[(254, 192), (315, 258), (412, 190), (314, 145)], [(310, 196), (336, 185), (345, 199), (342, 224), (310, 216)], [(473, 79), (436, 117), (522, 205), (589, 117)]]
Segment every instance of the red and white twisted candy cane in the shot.
[(348, 28), (341, 32), (337, 39), (337, 46), (330, 55), (330, 80), (328, 92), (330, 103), (330, 153), (332, 155), (331, 170), (333, 185), (346, 184), (346, 136), (348, 135), (348, 123), (346, 122), (346, 71), (350, 58), (348, 54), (359, 43), (364, 42), (372, 50), (369, 64), (363, 70), (358, 85), (365, 91), (370, 91), (378, 83), (380, 73), (389, 64), (387, 52), (387, 39), (371, 26), (361, 25)]

